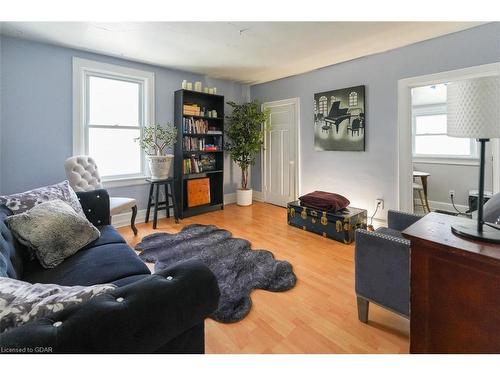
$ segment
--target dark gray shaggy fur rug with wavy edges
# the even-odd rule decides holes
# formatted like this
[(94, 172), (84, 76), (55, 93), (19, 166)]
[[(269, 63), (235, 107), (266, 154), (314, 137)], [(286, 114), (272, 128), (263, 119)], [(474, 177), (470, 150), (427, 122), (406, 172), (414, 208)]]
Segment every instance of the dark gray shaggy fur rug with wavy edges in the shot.
[(252, 250), (247, 240), (233, 238), (231, 232), (214, 225), (154, 233), (135, 248), (142, 260), (155, 263), (156, 272), (188, 259), (202, 261), (215, 274), (221, 291), (219, 308), (211, 317), (223, 323), (237, 322), (248, 314), (252, 289), (282, 292), (297, 281), (290, 263), (274, 259), (270, 251)]

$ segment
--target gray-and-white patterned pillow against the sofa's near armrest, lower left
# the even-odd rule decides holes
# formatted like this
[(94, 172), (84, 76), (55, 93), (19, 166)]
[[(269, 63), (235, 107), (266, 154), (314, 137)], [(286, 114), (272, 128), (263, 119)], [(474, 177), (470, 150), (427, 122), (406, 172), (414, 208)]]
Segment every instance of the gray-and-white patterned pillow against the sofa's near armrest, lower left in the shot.
[(0, 277), (0, 333), (115, 289), (113, 284), (61, 286)]

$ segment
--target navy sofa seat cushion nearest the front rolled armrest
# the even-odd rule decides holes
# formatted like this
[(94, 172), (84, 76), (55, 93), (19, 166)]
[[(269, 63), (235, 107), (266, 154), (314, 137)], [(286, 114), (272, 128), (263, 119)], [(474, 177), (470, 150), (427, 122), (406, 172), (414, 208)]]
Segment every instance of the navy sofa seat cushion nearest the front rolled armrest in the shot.
[(51, 269), (42, 268), (37, 261), (26, 263), (23, 280), (69, 286), (94, 285), (146, 274), (150, 274), (148, 267), (126, 243), (110, 243), (82, 249)]

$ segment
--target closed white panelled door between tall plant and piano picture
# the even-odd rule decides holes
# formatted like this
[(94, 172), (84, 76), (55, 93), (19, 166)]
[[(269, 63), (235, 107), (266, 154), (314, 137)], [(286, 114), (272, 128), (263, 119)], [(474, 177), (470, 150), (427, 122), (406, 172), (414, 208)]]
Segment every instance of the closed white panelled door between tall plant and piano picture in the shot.
[(298, 100), (264, 103), (270, 110), (264, 148), (264, 200), (286, 207), (298, 193)]

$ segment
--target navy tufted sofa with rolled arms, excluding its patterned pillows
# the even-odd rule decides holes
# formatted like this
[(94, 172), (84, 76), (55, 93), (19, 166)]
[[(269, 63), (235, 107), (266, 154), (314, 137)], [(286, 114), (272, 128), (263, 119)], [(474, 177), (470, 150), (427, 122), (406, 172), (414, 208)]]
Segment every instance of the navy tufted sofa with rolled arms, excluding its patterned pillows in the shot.
[[(77, 193), (99, 239), (53, 269), (28, 260), (0, 207), (0, 267), (8, 277), (31, 283), (94, 285), (115, 290), (0, 334), (3, 352), (50, 348), (53, 353), (204, 353), (204, 320), (218, 306), (212, 272), (190, 261), (151, 275), (110, 225), (106, 190)], [(54, 326), (55, 322), (62, 322)]]

